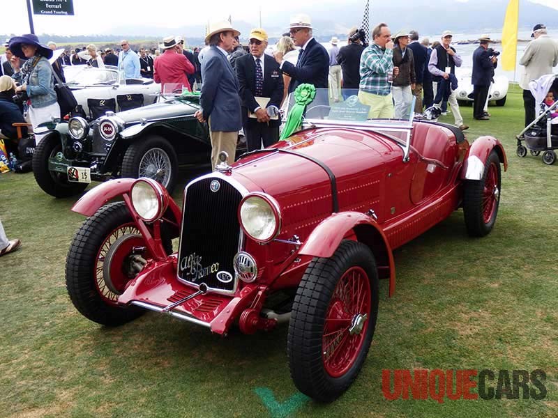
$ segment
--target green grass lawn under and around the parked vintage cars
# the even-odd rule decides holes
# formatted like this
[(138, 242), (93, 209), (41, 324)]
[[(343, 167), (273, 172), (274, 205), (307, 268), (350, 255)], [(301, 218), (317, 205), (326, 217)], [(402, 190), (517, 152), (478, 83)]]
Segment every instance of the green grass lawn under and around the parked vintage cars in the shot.
[[(518, 88), (490, 113), (490, 121), (473, 121), (472, 107), (462, 107), (469, 141), (489, 134), (508, 154), (494, 231), (468, 238), (458, 210), (395, 252), (397, 289), (389, 299), (387, 281), (380, 284), (368, 360), (329, 405), (296, 392), (287, 326), (221, 339), (153, 313), (116, 328), (86, 320), (64, 282), (84, 220), (70, 212), (76, 199), (53, 199), (32, 173), (0, 174), (0, 217), (8, 237), (23, 242), (0, 258), (0, 416), (557, 417), (558, 164), (515, 155), (524, 118)], [(184, 175), (186, 184), (193, 173)], [(388, 401), (382, 369), (490, 369), (496, 378), (501, 369), (543, 369), (548, 394)]]

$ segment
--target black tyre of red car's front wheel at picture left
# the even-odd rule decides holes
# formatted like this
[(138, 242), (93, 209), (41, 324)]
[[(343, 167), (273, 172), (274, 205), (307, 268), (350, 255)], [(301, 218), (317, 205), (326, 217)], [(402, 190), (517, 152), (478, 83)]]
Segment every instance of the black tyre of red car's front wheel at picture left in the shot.
[[(139, 235), (126, 203), (108, 203), (82, 224), (66, 258), (66, 289), (70, 300), (83, 316), (102, 325), (121, 325), (144, 314), (143, 309), (116, 304), (119, 294), (110, 291), (111, 286), (105, 281), (105, 256), (124, 235)], [(170, 239), (163, 240), (168, 254), (172, 243)], [(103, 265), (97, 263), (100, 260)], [(123, 266), (119, 270), (125, 276)]]

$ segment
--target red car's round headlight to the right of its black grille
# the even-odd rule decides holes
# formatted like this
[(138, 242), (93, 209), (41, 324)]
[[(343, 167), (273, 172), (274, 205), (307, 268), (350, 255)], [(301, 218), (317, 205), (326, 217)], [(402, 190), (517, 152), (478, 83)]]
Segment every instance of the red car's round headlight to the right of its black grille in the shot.
[(241, 202), (239, 220), (252, 240), (269, 242), (276, 238), (281, 227), (279, 205), (267, 194), (248, 194)]

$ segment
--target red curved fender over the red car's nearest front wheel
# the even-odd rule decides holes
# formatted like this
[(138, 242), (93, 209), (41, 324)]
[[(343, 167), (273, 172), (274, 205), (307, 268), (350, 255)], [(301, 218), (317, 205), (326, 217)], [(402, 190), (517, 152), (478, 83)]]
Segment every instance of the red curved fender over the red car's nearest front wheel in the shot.
[(351, 231), (368, 245), (376, 258), (380, 278), (389, 277), (389, 295), (395, 292), (395, 263), (384, 231), (372, 217), (361, 212), (333, 213), (324, 219), (304, 242), (299, 254), (329, 258)]

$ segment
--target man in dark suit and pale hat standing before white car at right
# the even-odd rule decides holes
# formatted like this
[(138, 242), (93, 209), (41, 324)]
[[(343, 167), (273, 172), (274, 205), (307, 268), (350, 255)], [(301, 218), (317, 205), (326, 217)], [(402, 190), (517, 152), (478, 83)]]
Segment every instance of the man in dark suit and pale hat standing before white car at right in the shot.
[(473, 117), (478, 121), (488, 121), (485, 114), (484, 104), (488, 98), (488, 89), (494, 75), (497, 59), (495, 56), (488, 55), (488, 42), (491, 41), (488, 35), (478, 38), (481, 45), (473, 52), (473, 74), (471, 84), (473, 85)]

